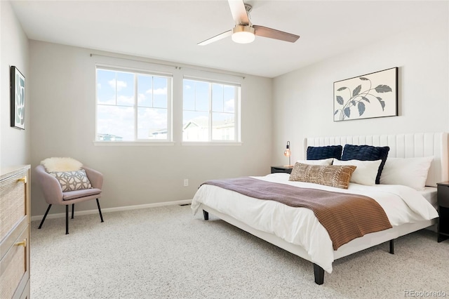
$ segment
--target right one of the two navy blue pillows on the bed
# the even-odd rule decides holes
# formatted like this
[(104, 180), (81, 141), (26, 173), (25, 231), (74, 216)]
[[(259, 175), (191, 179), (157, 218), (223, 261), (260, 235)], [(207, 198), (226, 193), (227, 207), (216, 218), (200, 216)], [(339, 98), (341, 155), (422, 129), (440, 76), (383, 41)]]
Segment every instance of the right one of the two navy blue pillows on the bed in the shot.
[(375, 161), (382, 159), (376, 176), (376, 184), (380, 184), (380, 174), (384, 169), (389, 150), (390, 147), (373, 147), (371, 145), (344, 145), (342, 161)]

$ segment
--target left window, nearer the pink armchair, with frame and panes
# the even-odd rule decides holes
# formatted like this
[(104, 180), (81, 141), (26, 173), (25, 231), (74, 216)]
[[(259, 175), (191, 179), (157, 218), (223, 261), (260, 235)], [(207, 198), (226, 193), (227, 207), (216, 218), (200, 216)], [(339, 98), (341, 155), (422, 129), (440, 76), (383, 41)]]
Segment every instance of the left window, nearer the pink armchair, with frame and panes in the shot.
[(97, 67), (95, 140), (170, 141), (172, 78)]

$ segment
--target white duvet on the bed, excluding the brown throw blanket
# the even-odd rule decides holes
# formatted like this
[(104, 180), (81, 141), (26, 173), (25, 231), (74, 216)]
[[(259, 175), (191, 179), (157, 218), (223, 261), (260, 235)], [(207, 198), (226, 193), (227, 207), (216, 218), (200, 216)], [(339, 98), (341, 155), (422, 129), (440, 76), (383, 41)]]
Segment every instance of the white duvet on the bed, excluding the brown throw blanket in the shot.
[[(252, 178), (297, 187), (366, 195), (375, 199), (384, 208), (392, 226), (438, 217), (435, 208), (420, 192), (410, 187), (350, 183), (349, 188), (344, 190), (307, 182), (290, 182), (289, 177), (287, 173), (272, 173)], [(323, 267), (328, 273), (332, 272), (334, 260), (332, 241), (314, 212), (308, 208), (293, 208), (277, 201), (255, 199), (213, 185), (202, 185), (196, 192), (192, 201), (194, 214), (201, 204), (230, 215), (256, 230), (275, 234), (289, 243), (302, 246), (310, 255), (311, 262)]]

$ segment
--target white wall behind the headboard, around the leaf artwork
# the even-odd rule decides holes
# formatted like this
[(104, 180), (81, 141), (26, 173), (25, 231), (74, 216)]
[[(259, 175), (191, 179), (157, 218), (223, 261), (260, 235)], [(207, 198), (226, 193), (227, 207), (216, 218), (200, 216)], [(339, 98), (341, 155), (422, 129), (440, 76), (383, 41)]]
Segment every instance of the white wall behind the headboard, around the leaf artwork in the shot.
[[(286, 163), (287, 140), (293, 163), (303, 159), (305, 137), (448, 131), (448, 11), (426, 27), (276, 77), (274, 164)], [(334, 81), (391, 67), (398, 67), (398, 117), (333, 121)]]

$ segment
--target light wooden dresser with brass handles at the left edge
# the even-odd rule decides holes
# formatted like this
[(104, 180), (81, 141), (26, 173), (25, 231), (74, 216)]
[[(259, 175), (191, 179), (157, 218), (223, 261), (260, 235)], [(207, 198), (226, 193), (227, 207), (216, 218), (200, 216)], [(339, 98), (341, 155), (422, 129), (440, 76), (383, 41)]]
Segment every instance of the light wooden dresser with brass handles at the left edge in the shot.
[(29, 165), (0, 169), (0, 298), (29, 298)]

